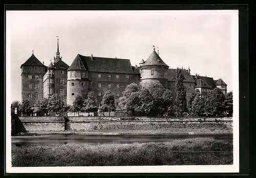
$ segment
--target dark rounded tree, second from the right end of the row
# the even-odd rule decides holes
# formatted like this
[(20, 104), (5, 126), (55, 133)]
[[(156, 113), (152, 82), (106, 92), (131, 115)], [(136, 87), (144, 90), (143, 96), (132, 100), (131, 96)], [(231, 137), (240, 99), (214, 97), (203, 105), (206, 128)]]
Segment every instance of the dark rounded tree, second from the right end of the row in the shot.
[(208, 93), (205, 101), (205, 110), (211, 116), (222, 114), (224, 111), (225, 96), (221, 89), (215, 88)]

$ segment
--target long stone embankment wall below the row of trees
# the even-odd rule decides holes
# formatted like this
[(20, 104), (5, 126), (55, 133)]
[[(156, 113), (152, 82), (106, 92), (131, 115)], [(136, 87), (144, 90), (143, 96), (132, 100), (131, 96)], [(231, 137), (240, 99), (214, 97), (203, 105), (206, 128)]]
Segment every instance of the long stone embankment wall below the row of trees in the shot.
[[(232, 117), (19, 117), (17, 127), (24, 132), (65, 130), (151, 130), (172, 128), (231, 128)], [(14, 122), (12, 122), (14, 123)], [(12, 127), (13, 128), (13, 127)]]

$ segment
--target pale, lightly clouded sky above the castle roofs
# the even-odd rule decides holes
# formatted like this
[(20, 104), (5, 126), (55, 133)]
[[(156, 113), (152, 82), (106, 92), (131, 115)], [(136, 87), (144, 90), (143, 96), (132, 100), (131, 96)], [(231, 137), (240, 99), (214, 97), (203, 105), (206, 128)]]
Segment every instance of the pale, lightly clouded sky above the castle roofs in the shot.
[[(59, 36), (62, 60), (77, 54), (130, 59), (133, 66), (153, 45), (170, 67), (222, 79), (232, 91), (232, 17), (236, 11), (7, 11), (11, 100), (21, 100), (22, 65), (34, 50), (45, 65), (53, 61)], [(9, 92), (9, 91), (8, 91)]]

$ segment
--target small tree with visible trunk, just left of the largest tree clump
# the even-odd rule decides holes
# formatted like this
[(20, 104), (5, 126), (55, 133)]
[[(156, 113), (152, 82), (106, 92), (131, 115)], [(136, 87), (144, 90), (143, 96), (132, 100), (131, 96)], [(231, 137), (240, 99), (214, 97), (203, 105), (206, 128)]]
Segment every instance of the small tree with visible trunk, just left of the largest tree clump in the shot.
[(116, 111), (115, 97), (111, 91), (105, 92), (99, 110), (100, 112), (109, 112), (109, 116), (110, 112)]

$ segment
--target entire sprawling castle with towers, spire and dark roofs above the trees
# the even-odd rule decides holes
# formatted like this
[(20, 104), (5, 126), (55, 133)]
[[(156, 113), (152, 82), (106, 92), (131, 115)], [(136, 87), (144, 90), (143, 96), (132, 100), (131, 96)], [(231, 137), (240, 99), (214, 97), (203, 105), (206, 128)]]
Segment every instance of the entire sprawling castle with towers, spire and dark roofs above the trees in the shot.
[[(176, 68), (168, 65), (156, 53), (155, 47), (146, 61), (141, 60), (139, 67), (132, 66), (129, 59), (103, 58), (82, 56), (77, 54), (71, 66), (62, 61), (57, 39), (57, 52), (49, 66), (45, 66), (35, 56), (32, 56), (20, 66), (22, 69), (22, 100), (29, 99), (32, 106), (39, 100), (58, 94), (68, 105), (73, 105), (77, 95), (87, 97), (93, 91), (100, 105), (103, 95), (110, 90), (115, 96), (117, 110), (119, 97), (125, 87), (131, 83), (159, 81), (165, 88), (175, 93)], [(222, 79), (214, 80), (198, 74), (191, 75), (190, 68), (181, 69), (184, 76), (187, 106), (195, 89), (199, 89), (202, 97), (214, 89), (220, 88), (227, 93), (227, 85)]]

